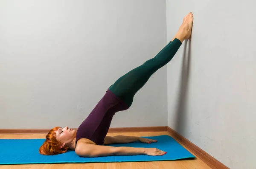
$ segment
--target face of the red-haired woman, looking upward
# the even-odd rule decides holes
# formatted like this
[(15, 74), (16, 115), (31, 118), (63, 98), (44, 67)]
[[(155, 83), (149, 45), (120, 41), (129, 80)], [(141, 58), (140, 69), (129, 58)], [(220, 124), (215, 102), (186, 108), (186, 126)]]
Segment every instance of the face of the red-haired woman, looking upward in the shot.
[(76, 130), (71, 128), (59, 128), (56, 132), (56, 139), (61, 143), (69, 144), (76, 137)]

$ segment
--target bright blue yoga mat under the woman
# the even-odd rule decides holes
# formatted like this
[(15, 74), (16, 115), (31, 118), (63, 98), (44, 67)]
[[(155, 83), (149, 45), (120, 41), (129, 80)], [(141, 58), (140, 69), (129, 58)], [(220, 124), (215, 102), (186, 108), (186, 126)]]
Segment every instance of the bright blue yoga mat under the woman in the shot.
[(0, 164), (39, 164), (39, 163), (94, 163), (94, 162), (134, 162), (134, 161), (171, 161), (195, 158), (169, 135), (144, 137), (157, 140), (156, 143), (140, 142), (126, 144), (109, 144), (108, 146), (132, 146), (158, 148), (166, 151), (163, 156), (148, 155), (112, 155), (106, 157), (84, 158), (68, 151), (59, 155), (41, 155), (39, 147), (45, 139), (0, 139)]

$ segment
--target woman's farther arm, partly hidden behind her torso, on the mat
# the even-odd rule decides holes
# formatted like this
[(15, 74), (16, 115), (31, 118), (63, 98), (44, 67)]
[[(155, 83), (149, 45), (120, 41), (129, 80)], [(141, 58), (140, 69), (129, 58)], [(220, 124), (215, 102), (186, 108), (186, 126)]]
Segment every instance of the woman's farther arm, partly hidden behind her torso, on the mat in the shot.
[(106, 136), (104, 144), (115, 144), (115, 143), (131, 143), (135, 141), (140, 141), (142, 143), (151, 143), (157, 142), (157, 140), (152, 140), (148, 138), (142, 137), (133, 137), (133, 136), (126, 136), (126, 135), (116, 135), (116, 136)]

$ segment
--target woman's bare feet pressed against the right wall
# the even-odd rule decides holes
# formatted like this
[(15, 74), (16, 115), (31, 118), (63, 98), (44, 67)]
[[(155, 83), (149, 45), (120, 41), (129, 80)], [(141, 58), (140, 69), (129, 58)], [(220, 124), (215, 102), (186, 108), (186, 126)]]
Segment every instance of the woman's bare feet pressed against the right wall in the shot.
[(185, 39), (189, 39), (191, 36), (191, 30), (193, 25), (193, 14), (190, 12), (183, 18), (183, 23), (180, 26), (180, 29), (177, 31), (175, 38), (179, 39), (180, 42), (183, 42)]

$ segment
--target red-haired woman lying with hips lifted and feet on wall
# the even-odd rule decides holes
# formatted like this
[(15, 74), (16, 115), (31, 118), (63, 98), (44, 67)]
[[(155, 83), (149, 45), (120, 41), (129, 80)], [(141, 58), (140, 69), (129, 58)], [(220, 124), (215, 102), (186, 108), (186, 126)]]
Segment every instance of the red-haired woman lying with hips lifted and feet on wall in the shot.
[(155, 140), (128, 137), (128, 136), (106, 136), (113, 115), (116, 112), (127, 110), (134, 95), (145, 85), (154, 72), (166, 65), (176, 54), (183, 40), (191, 36), (193, 14), (190, 12), (183, 18), (177, 34), (160, 51), (157, 56), (149, 59), (143, 65), (131, 70), (120, 77), (111, 85), (96, 107), (81, 123), (78, 130), (68, 127), (55, 127), (49, 131), (46, 141), (40, 147), (39, 152), (43, 155), (56, 155), (67, 152), (68, 149), (75, 150), (81, 157), (99, 157), (108, 155), (164, 155), (166, 152), (156, 148), (134, 148), (104, 146), (113, 143), (128, 143), (141, 141), (143, 143), (156, 142)]

